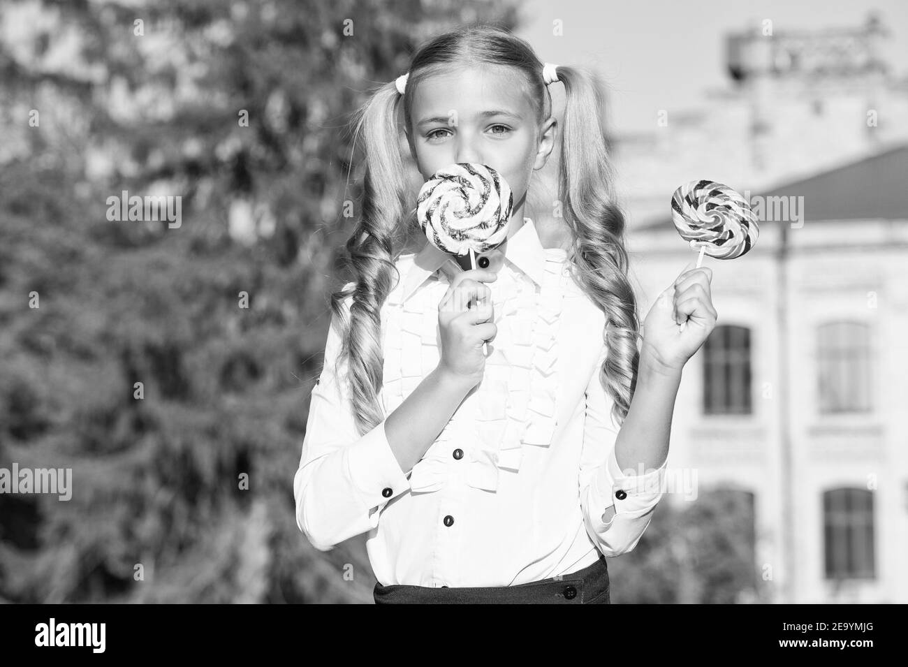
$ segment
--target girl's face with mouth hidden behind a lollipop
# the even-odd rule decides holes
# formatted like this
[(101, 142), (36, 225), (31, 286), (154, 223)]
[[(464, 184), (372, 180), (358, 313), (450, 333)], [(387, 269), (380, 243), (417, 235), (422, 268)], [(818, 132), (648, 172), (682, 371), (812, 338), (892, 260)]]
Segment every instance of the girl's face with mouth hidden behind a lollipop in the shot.
[(488, 164), (508, 181), (514, 216), (522, 215), (530, 175), (555, 145), (555, 119), (539, 127), (513, 70), (498, 65), (420, 81), (411, 120), (407, 138), (423, 181), (454, 162)]

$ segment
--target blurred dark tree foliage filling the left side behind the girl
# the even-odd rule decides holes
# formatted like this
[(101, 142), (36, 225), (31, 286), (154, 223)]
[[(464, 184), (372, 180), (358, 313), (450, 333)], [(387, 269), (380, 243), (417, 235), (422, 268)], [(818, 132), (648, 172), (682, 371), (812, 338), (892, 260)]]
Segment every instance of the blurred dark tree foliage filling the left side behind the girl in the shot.
[[(0, 43), (0, 466), (72, 467), (74, 490), (0, 495), (0, 598), (370, 602), (363, 538), (314, 550), (292, 495), (328, 295), (345, 281), (339, 211), (360, 194), (350, 113), (429, 34), (513, 25), (513, 8), (42, 11), (56, 23), (34, 48)], [(49, 71), (71, 33), (79, 48)], [(122, 191), (182, 196), (182, 225), (108, 221)], [(236, 211), (252, 211), (252, 239)]]

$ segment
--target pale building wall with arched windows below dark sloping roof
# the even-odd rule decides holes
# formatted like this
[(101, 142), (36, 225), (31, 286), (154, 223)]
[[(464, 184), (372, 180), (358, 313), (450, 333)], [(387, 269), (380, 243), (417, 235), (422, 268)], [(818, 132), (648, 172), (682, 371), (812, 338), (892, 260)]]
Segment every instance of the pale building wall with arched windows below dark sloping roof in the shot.
[[(906, 175), (908, 142), (746, 193), (755, 247), (704, 258), (719, 318), (686, 365), (669, 468), (753, 494), (773, 602), (908, 602)], [(628, 238), (641, 317), (696, 260), (668, 200)]]

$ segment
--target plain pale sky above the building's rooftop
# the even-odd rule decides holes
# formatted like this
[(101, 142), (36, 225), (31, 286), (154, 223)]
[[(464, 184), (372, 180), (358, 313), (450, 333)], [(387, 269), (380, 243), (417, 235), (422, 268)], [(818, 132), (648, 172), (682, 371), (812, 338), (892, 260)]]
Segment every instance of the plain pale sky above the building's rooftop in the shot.
[(855, 27), (873, 10), (892, 33), (883, 54), (893, 73), (908, 75), (908, 0), (527, 0), (516, 33), (544, 62), (596, 68), (610, 89), (609, 125), (645, 132), (657, 110), (696, 108), (704, 91), (730, 84), (725, 34), (767, 18), (775, 33)]

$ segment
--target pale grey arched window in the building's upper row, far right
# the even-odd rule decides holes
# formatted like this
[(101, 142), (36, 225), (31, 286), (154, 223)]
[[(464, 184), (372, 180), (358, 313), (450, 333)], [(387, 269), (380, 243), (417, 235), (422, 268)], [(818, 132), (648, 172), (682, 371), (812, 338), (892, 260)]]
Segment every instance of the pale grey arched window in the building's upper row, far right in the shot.
[(821, 325), (816, 348), (820, 412), (869, 412), (870, 327), (861, 322)]

